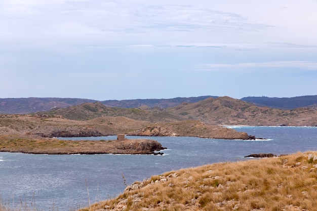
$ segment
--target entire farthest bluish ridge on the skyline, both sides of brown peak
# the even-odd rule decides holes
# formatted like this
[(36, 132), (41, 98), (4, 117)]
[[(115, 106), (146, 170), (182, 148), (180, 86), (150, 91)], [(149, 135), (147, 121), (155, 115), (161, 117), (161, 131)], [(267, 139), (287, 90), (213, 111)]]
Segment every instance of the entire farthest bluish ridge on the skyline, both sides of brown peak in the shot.
[[(80, 98), (0, 98), (0, 113), (3, 114), (27, 114), (39, 111), (49, 111), (54, 108), (66, 108), (83, 103), (100, 102), (107, 107), (118, 108), (169, 108), (182, 103), (195, 103), (207, 98), (217, 96), (200, 96), (189, 98), (172, 99), (135, 99), (135, 100), (105, 100), (97, 101)], [(279, 109), (295, 109), (299, 107), (313, 107), (317, 105), (317, 96), (301, 96), (294, 98), (268, 98), (268, 97), (246, 97), (241, 100), (254, 103), (258, 106), (267, 106)]]

